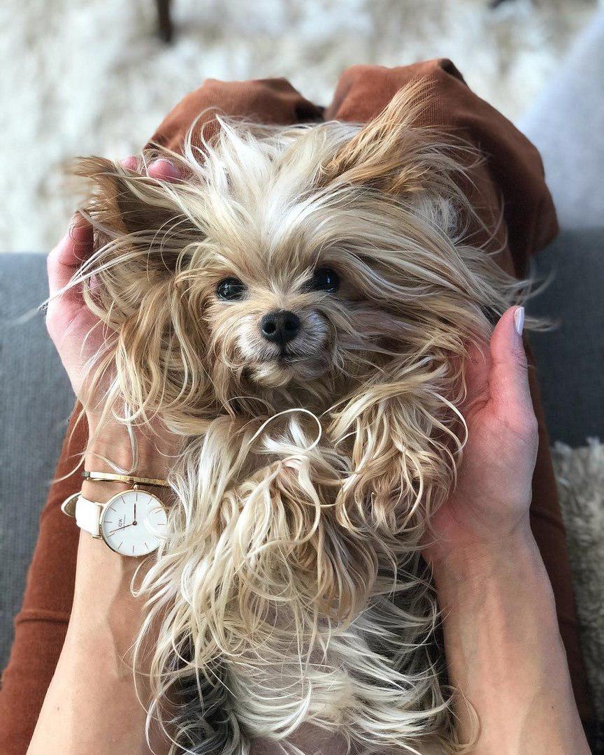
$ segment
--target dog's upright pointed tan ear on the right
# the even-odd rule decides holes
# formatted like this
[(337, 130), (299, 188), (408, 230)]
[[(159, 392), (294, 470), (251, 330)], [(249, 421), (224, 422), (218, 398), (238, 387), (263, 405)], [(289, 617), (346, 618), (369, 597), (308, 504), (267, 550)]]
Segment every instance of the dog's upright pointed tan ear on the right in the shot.
[(322, 166), (322, 185), (347, 183), (396, 195), (437, 186), (445, 167), (443, 145), (435, 131), (418, 124), (427, 97), (421, 82), (397, 92)]

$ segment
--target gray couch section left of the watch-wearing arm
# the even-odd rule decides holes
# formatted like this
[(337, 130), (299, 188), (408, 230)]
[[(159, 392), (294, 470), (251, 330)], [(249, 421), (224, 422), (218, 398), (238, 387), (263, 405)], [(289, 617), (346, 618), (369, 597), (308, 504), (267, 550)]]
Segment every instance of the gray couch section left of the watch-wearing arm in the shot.
[(47, 295), (44, 254), (0, 254), (0, 667), (74, 401), (43, 314), (16, 322)]

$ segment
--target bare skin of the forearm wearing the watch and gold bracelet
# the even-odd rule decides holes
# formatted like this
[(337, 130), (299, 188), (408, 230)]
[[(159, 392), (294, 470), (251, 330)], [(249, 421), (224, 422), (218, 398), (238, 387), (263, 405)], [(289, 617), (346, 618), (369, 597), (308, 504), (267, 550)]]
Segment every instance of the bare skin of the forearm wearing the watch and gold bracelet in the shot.
[[(126, 465), (119, 448), (123, 445), (110, 442), (96, 450), (112, 461)], [(144, 458), (141, 474), (164, 476), (161, 462), (146, 451)], [(87, 457), (85, 466), (92, 470), (106, 469), (106, 464), (93, 456)], [(126, 486), (85, 482), (82, 492), (87, 498), (103, 502), (119, 492), (120, 487)], [(131, 581), (139, 566), (140, 559), (114, 553), (102, 540), (92, 538), (87, 532), (80, 536), (66, 640), (29, 746), (29, 755), (152, 752), (145, 735), (144, 673), (137, 676), (137, 691), (131, 652), (143, 618), (143, 601), (131, 594)], [(144, 667), (139, 665), (138, 670), (144, 672)], [(159, 741), (157, 732), (152, 732), (152, 736), (153, 752), (165, 751), (165, 744)]]

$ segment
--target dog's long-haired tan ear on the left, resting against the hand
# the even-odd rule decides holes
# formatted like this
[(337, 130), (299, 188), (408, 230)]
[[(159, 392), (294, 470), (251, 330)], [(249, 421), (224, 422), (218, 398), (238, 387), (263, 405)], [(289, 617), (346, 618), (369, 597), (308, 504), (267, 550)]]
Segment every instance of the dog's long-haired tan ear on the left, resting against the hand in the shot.
[(99, 158), (82, 160), (79, 174), (95, 183), (84, 210), (95, 248), (83, 295), (104, 332), (113, 333), (103, 357), (115, 365), (113, 400), (136, 419), (157, 413), (174, 425), (199, 418), (199, 396), (211, 394), (208, 334), (183, 251), (203, 233), (186, 213), (187, 188)]

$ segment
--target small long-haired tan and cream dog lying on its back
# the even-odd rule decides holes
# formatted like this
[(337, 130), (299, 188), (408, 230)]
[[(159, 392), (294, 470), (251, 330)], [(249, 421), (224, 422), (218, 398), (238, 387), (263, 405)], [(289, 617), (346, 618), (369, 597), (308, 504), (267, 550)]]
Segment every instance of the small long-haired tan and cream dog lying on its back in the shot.
[[(417, 102), (82, 162), (106, 411), (183, 441), (140, 638), (174, 753), (296, 753), (303, 725), (356, 753), (460, 747), (418, 553), (455, 485), (467, 344), (524, 289), (468, 242), (467, 150)], [(158, 156), (184, 180), (147, 177)]]

